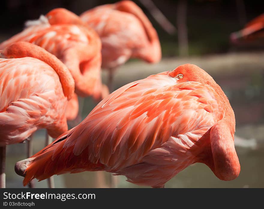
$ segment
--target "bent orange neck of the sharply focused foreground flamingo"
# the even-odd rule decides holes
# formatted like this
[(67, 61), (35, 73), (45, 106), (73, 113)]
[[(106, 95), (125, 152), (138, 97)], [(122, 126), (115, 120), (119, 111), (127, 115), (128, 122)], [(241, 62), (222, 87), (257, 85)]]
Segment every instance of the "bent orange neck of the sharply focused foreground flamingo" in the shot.
[(210, 84), (217, 92), (219, 106), (224, 108), (224, 117), (210, 130), (210, 144), (212, 155), (208, 160), (208, 166), (221, 180), (235, 179), (240, 172), (240, 164), (235, 151), (235, 114), (221, 87), (212, 82)]

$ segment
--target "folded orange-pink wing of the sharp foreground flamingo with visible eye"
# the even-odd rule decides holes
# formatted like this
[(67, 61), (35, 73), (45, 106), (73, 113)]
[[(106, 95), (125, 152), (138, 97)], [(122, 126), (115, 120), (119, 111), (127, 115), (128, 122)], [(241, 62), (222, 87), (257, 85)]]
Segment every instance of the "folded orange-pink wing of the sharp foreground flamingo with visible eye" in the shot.
[(195, 143), (223, 118), (222, 104), (210, 86), (177, 84), (168, 74), (149, 76), (114, 91), (69, 132), (52, 158), (63, 150), (86, 156), (84, 163), (119, 170), (140, 163), (171, 136), (191, 133)]

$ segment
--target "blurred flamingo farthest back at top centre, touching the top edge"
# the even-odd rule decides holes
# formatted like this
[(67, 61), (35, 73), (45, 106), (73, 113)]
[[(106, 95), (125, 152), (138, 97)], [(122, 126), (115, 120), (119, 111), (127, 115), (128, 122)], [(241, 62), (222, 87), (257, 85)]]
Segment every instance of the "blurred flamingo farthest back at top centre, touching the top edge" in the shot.
[(156, 63), (161, 45), (151, 22), (133, 1), (119, 1), (88, 10), (81, 19), (96, 30), (102, 41), (102, 68), (109, 71), (108, 87), (113, 90), (113, 73), (128, 59)]

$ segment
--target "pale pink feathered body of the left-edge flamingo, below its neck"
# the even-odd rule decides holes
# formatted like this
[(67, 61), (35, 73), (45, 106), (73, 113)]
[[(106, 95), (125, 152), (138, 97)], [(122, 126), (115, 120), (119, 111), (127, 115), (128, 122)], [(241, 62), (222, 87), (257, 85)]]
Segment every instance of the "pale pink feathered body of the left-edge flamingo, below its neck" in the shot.
[(54, 137), (67, 130), (67, 98), (58, 75), (46, 63), (31, 57), (0, 59), (0, 95), (1, 144), (21, 142), (51, 123), (54, 129), (61, 125)]

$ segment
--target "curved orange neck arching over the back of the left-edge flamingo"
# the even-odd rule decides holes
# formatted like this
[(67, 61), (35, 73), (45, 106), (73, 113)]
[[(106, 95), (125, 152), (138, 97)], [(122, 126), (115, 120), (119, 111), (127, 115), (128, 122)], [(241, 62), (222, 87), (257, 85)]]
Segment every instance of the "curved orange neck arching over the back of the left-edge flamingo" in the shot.
[(33, 57), (46, 62), (58, 74), (64, 95), (68, 99), (72, 97), (74, 93), (74, 80), (70, 71), (57, 57), (45, 49), (28, 42), (16, 42), (5, 48), (2, 54), (5, 58)]

